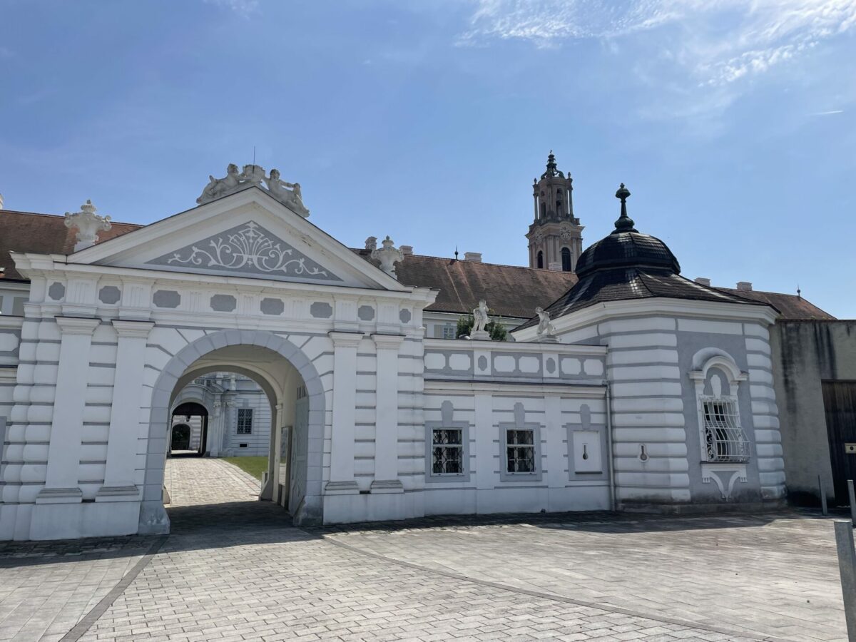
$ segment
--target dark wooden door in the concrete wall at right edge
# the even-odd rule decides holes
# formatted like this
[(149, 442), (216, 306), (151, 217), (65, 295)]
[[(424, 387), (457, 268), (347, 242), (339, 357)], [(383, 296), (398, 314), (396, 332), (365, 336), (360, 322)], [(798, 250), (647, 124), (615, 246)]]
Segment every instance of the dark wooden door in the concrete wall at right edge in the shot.
[(835, 481), (835, 503), (846, 506), (850, 503), (847, 479), (856, 481), (856, 381), (824, 381), (823, 408)]

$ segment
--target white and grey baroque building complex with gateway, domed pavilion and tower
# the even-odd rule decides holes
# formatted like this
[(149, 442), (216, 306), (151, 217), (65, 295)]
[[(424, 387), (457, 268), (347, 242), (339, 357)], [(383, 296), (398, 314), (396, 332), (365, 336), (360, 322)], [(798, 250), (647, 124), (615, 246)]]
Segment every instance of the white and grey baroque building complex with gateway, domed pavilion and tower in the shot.
[(829, 315), (680, 276), (623, 185), (583, 251), (571, 183), (551, 154), (529, 268), (350, 249), (256, 165), (145, 227), (0, 211), (0, 540), (168, 532), (172, 415), (222, 372), (270, 402), (296, 524), (781, 505), (770, 329)]

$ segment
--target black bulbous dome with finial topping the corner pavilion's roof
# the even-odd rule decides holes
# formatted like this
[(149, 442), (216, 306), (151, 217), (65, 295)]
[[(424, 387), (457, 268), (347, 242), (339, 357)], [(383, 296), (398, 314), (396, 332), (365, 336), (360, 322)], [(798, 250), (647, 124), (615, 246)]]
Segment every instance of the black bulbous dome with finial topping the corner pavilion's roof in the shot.
[(680, 274), (681, 265), (669, 247), (633, 227), (633, 219), (627, 216), (626, 200), (630, 192), (624, 183), (615, 196), (621, 199), (621, 217), (615, 221), (612, 234), (592, 243), (580, 254), (575, 270), (577, 276), (581, 279), (597, 270), (622, 267), (654, 268)]

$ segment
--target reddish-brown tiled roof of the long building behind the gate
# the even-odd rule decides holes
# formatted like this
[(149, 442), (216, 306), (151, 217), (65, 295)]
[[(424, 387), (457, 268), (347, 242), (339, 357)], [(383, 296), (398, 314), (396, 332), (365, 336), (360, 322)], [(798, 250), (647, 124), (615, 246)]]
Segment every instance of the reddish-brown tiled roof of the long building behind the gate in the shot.
[[(106, 241), (142, 225), (112, 223), (98, 239)], [(74, 249), (74, 230), (65, 226), (65, 217), (27, 211), (0, 210), (0, 268), (9, 281), (26, 281), (15, 270), (10, 251), (44, 254), (70, 254)], [(354, 250), (366, 260), (366, 250)], [(376, 262), (375, 262), (376, 263)], [(376, 263), (377, 265), (377, 263)], [(496, 265), (476, 261), (408, 255), (396, 265), (398, 278), (406, 285), (437, 288), (437, 300), (428, 307), (437, 312), (464, 314), (477, 306), (479, 299), (503, 317), (532, 317), (536, 306), (547, 307), (562, 297), (577, 276), (570, 272), (535, 270), (515, 265)], [(747, 300), (767, 303), (782, 312), (782, 318), (834, 318), (809, 301), (793, 294), (716, 288)]]

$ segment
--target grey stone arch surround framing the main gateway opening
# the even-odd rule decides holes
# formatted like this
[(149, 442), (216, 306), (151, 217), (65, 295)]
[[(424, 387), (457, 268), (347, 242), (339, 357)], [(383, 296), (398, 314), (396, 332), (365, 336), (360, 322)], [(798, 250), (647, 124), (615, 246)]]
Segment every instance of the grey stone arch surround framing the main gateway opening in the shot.
[(219, 330), (202, 336), (176, 353), (163, 367), (152, 389), (152, 408), (146, 449), (146, 474), (140, 506), (140, 533), (169, 532), (169, 517), (163, 508), (163, 466), (166, 456), (169, 406), (175, 386), (187, 368), (205, 354), (228, 346), (266, 348), (287, 360), (300, 374), (309, 403), (306, 495), (294, 511), (294, 523), (321, 523), (321, 468), (324, 444), (324, 387), (318, 371), (306, 354), (288, 341), (265, 330)]

